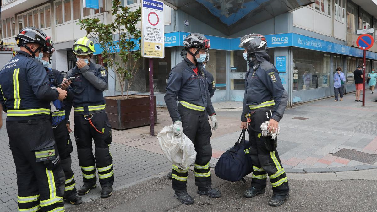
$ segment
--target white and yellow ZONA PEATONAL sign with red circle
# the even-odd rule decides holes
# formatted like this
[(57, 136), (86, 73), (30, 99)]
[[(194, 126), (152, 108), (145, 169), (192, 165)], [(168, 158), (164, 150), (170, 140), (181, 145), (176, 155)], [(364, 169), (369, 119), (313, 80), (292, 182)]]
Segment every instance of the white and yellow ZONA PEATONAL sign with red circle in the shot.
[(164, 3), (157, 0), (143, 0), (141, 25), (141, 56), (164, 58)]

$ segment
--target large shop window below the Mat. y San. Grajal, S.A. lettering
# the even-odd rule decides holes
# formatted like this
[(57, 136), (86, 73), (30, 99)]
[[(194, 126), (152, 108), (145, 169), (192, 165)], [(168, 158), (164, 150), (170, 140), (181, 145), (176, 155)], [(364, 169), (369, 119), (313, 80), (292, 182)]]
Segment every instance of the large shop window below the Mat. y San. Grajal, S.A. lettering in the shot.
[(298, 72), (293, 90), (330, 85), (330, 55), (319, 51), (293, 48), (293, 67)]

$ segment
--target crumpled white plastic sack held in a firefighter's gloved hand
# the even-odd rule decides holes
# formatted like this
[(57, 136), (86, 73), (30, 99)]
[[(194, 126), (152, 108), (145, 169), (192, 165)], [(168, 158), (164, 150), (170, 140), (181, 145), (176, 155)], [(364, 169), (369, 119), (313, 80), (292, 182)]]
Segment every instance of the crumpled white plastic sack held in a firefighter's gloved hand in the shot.
[(173, 124), (164, 127), (158, 134), (158, 143), (167, 160), (180, 169), (187, 169), (195, 163), (196, 152), (192, 141), (185, 134), (176, 137), (173, 134)]

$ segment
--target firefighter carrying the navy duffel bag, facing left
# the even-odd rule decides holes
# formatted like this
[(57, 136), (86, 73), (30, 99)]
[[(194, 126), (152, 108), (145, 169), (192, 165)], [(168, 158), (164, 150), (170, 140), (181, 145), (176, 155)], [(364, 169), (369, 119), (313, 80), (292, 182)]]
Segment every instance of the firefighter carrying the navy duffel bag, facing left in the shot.
[(251, 69), (246, 73), (244, 107), (241, 115), (241, 128), (246, 129), (249, 122), (249, 141), (256, 151), (250, 151), (253, 161), (251, 187), (245, 197), (255, 197), (265, 192), (267, 174), (274, 195), (270, 206), (280, 206), (289, 197), (288, 179), (276, 151), (277, 140), (271, 136), (261, 136), (261, 124), (269, 121), (269, 132), (278, 128), (287, 106), (288, 94), (275, 66), (267, 54), (266, 38), (260, 34), (250, 34), (241, 38), (240, 48), (244, 48), (244, 58)]

